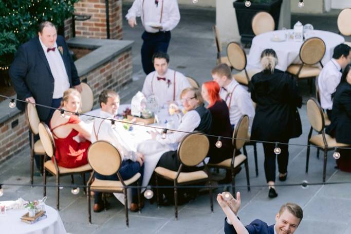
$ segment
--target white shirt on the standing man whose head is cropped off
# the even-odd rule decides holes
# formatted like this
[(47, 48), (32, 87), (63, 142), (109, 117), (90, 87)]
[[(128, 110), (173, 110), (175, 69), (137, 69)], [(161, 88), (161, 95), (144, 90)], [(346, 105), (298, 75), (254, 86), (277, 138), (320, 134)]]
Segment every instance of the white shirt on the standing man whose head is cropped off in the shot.
[(158, 0), (157, 5), (155, 0), (135, 0), (125, 17), (129, 20), (139, 16), (145, 31), (152, 33), (159, 30), (145, 25), (145, 23), (161, 23), (161, 31), (171, 31), (180, 21), (177, 0)]

